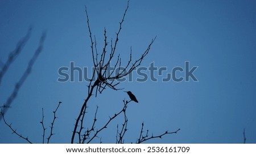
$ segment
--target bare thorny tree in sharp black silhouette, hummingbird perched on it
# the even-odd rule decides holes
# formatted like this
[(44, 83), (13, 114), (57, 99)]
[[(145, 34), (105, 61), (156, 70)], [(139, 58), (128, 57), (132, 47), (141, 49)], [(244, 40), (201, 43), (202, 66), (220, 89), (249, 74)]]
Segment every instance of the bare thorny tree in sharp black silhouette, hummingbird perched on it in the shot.
[[(97, 97), (97, 93), (102, 93), (106, 89), (106, 87), (109, 87), (110, 89), (114, 89), (116, 91), (122, 89), (122, 88), (117, 88), (117, 85), (120, 84), (117, 80), (123, 78), (124, 76), (131, 74), (131, 72), (136, 67), (141, 65), (144, 57), (146, 57), (146, 55), (150, 51), (151, 45), (155, 41), (156, 37), (150, 41), (147, 48), (143, 51), (141, 57), (139, 57), (135, 60), (132, 57), (132, 50), (130, 48), (129, 61), (125, 64), (124, 69), (120, 70), (121, 64), (122, 64), (120, 55), (118, 55), (117, 59), (115, 59), (115, 60), (113, 58), (116, 53), (117, 44), (119, 41), (119, 33), (121, 33), (122, 24), (123, 24), (123, 21), (125, 20), (125, 16), (126, 16), (128, 8), (129, 8), (129, 1), (127, 2), (127, 7), (125, 9), (125, 12), (123, 13), (122, 19), (119, 22), (119, 29), (118, 29), (117, 33), (115, 34), (114, 40), (112, 38), (108, 39), (106, 29), (104, 29), (104, 48), (101, 51), (101, 53), (98, 53), (96, 37), (92, 36), (92, 32), (91, 32), (90, 24), (89, 24), (89, 16), (88, 16), (88, 12), (87, 12), (87, 9), (85, 6), (85, 13), (86, 13), (87, 25), (88, 25), (88, 31), (89, 31), (89, 37), (90, 37), (90, 48), (91, 48), (92, 61), (93, 61), (93, 75), (92, 75), (92, 78), (90, 79), (90, 82), (88, 85), (87, 97), (84, 101), (84, 104), (82, 105), (82, 107), (80, 109), (80, 113), (75, 122), (75, 127), (74, 127), (72, 137), (71, 137), (71, 143), (75, 143), (76, 136), (77, 136), (77, 143), (90, 143), (95, 137), (97, 137), (99, 132), (104, 130), (108, 126), (108, 124), (110, 122), (112, 122), (112, 120), (115, 119), (116, 117), (118, 117), (118, 115), (120, 115), (120, 114), (124, 115), (125, 122), (122, 124), (122, 128), (121, 128), (120, 132), (118, 131), (118, 126), (117, 126), (116, 143), (123, 143), (123, 137), (127, 131), (126, 109), (127, 109), (127, 105), (129, 104), (129, 102), (131, 100), (123, 101), (123, 104), (124, 104), (123, 109), (121, 109), (118, 113), (114, 114), (113, 117), (110, 117), (109, 120), (106, 122), (106, 124), (103, 127), (101, 127), (100, 129), (96, 130), (96, 127), (95, 127), (95, 123), (97, 121), (97, 118), (96, 118), (97, 110), (95, 113), (92, 127), (86, 128), (84, 126), (84, 118), (85, 118), (85, 115), (87, 114), (86, 108), (88, 107), (88, 101), (92, 97), (93, 92), (96, 94), (95, 96)], [(110, 44), (109, 44), (109, 41), (110, 41)], [(109, 46), (110, 46), (110, 53), (107, 54), (106, 49), (109, 48)], [(112, 62), (112, 63), (114, 62), (114, 67), (112, 67), (112, 70), (110, 71), (110, 73), (108, 73), (107, 71), (110, 70), (110, 68), (109, 68), (110, 62)], [(115, 70), (117, 70), (117, 71), (115, 71)], [(94, 80), (94, 79), (96, 79), (96, 80)], [(98, 109), (98, 107), (97, 107), (97, 109)], [(177, 131), (179, 131), (179, 130), (177, 130)], [(161, 138), (162, 136), (164, 136), (166, 134), (175, 134), (177, 131), (175, 131), (175, 132), (166, 131), (166, 132), (164, 132), (164, 134), (161, 134), (159, 136), (151, 136), (151, 137), (148, 136), (148, 131), (147, 131), (147, 134), (145, 136), (142, 136), (142, 132), (143, 132), (143, 123), (142, 123), (141, 135), (139, 136), (137, 143), (142, 143), (143, 141), (153, 139), (156, 137)]]

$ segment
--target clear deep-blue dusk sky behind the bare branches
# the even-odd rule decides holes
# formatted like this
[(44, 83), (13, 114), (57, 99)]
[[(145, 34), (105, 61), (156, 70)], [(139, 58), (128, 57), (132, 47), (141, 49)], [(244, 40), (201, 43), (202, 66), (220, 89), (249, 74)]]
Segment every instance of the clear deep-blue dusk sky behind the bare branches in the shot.
[[(49, 126), (52, 111), (57, 111), (51, 143), (70, 143), (75, 118), (87, 94), (86, 81), (60, 83), (60, 67), (92, 66), (89, 33), (84, 5), (88, 9), (90, 26), (96, 35), (98, 49), (102, 49), (104, 27), (108, 38), (114, 37), (127, 1), (0, 1), (0, 67), (15, 49), (17, 42), (32, 26), (31, 37), (22, 52), (11, 64), (0, 85), (0, 103), (6, 102), (16, 81), (26, 70), (34, 54), (40, 35), (47, 31), (42, 53), (32, 72), (20, 89), (6, 119), (34, 143), (42, 143), (42, 107), (44, 123)], [(141, 78), (133, 72), (133, 82), (119, 84), (131, 91), (139, 104), (127, 108), (128, 131), (126, 143), (135, 143), (141, 123), (154, 135), (166, 130), (181, 130), (162, 139), (147, 143), (256, 143), (256, 2), (255, 1), (130, 1), (123, 29), (119, 36), (117, 54), (123, 64), (129, 58), (139, 58), (151, 39), (157, 36), (142, 66), (167, 67), (156, 82)], [(117, 55), (116, 55), (117, 57)], [(197, 80), (175, 82), (162, 79), (175, 67), (185, 70), (185, 62)], [(147, 75), (150, 72), (145, 71)], [(176, 77), (184, 76), (177, 71)], [(128, 96), (123, 91), (106, 89), (89, 101), (88, 123), (92, 122), (96, 105), (100, 128), (109, 116), (122, 108)], [(115, 143), (117, 124), (123, 117), (109, 124), (99, 136), (103, 143)], [(26, 143), (11, 134), (0, 122), (0, 143)], [(93, 143), (100, 143), (95, 139)]]

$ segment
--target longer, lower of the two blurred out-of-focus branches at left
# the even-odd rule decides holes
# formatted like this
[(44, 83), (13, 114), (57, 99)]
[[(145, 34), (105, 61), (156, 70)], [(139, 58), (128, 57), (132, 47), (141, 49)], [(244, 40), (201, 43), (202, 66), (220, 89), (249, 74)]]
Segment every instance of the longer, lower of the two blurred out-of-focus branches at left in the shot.
[[(36, 49), (33, 57), (30, 59), (30, 62), (28, 62), (26, 71), (23, 73), (23, 75), (19, 79), (18, 83), (16, 83), (13, 93), (11, 93), (11, 95), (9, 96), (9, 98), (7, 99), (5, 104), (2, 106), (2, 108), (1, 108), (2, 113), (4, 113), (4, 114), (6, 113), (8, 107), (10, 107), (11, 103), (16, 98), (16, 95), (18, 94), (20, 87), (22, 87), (22, 84), (27, 79), (28, 75), (30, 74), (32, 66), (34, 65), (36, 59), (38, 58), (38, 55), (41, 53), (41, 51), (43, 49), (43, 43), (44, 43), (45, 38), (46, 38), (46, 32), (43, 32), (43, 34), (40, 38), (39, 46)], [(0, 120), (1, 119), (2, 119), (2, 117), (0, 117)]]

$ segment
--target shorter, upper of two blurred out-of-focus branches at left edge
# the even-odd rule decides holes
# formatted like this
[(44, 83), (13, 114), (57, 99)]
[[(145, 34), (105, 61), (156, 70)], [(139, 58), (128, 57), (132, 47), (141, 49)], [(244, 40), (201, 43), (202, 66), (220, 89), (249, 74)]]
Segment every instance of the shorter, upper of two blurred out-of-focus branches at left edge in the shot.
[(23, 47), (27, 43), (28, 39), (30, 38), (32, 28), (30, 27), (27, 31), (26, 36), (24, 36), (16, 45), (16, 48), (14, 51), (11, 51), (9, 54), (9, 57), (5, 64), (3, 64), (2, 70), (0, 71), (0, 85), (3, 78), (3, 75), (5, 75), (6, 71), (10, 67), (11, 63), (14, 62), (15, 58), (19, 55), (20, 51), (22, 51)]

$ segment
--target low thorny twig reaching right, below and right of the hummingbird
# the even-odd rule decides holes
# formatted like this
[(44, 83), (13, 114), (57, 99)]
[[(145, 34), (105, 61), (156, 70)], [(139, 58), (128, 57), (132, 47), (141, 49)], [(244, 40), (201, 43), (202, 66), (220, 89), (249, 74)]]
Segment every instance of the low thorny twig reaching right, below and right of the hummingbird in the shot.
[(153, 134), (151, 136), (148, 136), (148, 130), (146, 132), (146, 135), (143, 136), (143, 126), (144, 126), (144, 123), (142, 123), (141, 125), (141, 132), (140, 132), (140, 135), (139, 135), (139, 139), (136, 141), (137, 144), (141, 144), (143, 143), (144, 141), (147, 141), (147, 140), (150, 140), (150, 139), (155, 139), (155, 138), (160, 138), (162, 139), (162, 136), (164, 135), (167, 135), (167, 134), (177, 134), (178, 131), (180, 131), (180, 128), (174, 132), (164, 132), (164, 134), (161, 134), (161, 135), (158, 135), (158, 136), (153, 136)]

